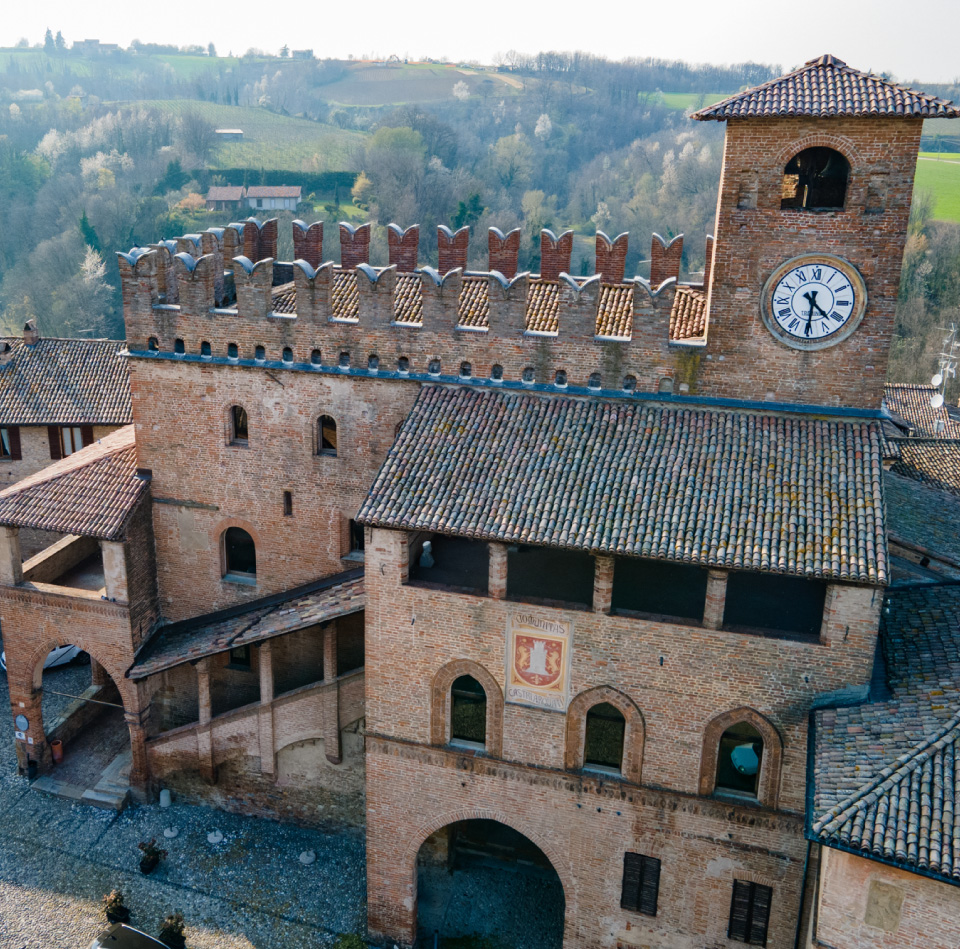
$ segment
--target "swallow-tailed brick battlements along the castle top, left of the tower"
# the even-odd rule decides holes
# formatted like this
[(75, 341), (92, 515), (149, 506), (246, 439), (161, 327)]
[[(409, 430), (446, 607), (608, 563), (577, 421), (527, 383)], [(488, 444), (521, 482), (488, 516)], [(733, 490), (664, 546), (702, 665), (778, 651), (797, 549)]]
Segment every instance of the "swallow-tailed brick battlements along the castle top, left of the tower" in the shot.
[(572, 231), (542, 232), (541, 272), (532, 274), (518, 273), (519, 230), (490, 229), (485, 272), (466, 269), (467, 228), (438, 228), (437, 269), (419, 266), (417, 225), (390, 225), (389, 262), (372, 266), (370, 230), (340, 225), (339, 264), (322, 262), (323, 223), (302, 221), (293, 224), (292, 264), (272, 256), (276, 220), (118, 254), (129, 348), (628, 391), (672, 389), (682, 375), (685, 391), (696, 387), (705, 301), (699, 284), (678, 284), (682, 236), (654, 235), (653, 284), (624, 279), (627, 234), (598, 233), (603, 269), (574, 277)]

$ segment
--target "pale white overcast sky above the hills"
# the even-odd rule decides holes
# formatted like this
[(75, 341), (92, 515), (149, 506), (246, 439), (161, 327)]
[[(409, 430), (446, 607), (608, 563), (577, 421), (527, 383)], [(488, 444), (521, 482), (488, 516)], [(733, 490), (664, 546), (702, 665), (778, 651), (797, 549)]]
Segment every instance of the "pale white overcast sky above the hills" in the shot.
[[(67, 42), (86, 37), (129, 45), (216, 44), (223, 55), (284, 44), (319, 57), (476, 59), (509, 49), (580, 49), (614, 59), (656, 56), (690, 62), (743, 60), (785, 69), (833, 53), (858, 69), (901, 81), (960, 77), (958, 0), (678, 0), (673, 3), (573, 3), (482, 0), (420, 5), (366, 0), (322, 2), (107, 3), (6, 0), (0, 45), (43, 39), (49, 26)], [(396, 11), (403, 10), (404, 16)], [(458, 12), (459, 11), (459, 12)], [(345, 13), (346, 16), (338, 14)]]

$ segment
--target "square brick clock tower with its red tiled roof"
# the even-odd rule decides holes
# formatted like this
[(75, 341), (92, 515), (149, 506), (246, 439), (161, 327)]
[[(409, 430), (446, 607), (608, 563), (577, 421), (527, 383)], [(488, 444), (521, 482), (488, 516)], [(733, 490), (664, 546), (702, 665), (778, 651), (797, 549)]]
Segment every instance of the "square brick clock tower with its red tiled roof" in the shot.
[(880, 407), (923, 120), (958, 116), (834, 56), (694, 115), (727, 123), (704, 391)]

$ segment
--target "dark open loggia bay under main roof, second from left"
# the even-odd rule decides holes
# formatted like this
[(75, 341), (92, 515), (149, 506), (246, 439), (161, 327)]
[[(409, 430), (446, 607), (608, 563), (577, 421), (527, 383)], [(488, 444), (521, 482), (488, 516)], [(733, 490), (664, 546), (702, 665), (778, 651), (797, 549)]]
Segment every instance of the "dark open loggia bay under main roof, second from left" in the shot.
[(593, 606), (593, 557), (579, 550), (508, 547), (507, 597)]

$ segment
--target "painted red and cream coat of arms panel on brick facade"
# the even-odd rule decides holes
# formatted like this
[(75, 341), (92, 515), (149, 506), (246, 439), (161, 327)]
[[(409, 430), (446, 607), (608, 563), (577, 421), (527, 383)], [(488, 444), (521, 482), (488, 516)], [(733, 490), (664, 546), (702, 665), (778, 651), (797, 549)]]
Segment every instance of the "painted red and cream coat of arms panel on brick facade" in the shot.
[(507, 701), (567, 707), (573, 624), (516, 612), (507, 620)]

